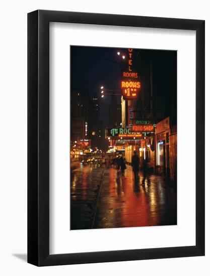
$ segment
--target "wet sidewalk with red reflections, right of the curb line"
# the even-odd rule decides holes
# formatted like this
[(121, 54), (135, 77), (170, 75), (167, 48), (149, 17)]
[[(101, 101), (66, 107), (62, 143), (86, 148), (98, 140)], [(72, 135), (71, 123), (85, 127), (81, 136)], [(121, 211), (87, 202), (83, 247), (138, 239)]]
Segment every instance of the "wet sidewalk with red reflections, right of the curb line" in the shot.
[(162, 176), (151, 175), (145, 185), (142, 173), (136, 183), (132, 168), (125, 175), (105, 170), (94, 228), (176, 224), (176, 194)]

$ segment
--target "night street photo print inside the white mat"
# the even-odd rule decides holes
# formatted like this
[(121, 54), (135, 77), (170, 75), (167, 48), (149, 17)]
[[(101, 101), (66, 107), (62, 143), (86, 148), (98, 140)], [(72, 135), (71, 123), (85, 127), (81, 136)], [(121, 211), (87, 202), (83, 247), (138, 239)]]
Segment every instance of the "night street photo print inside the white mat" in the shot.
[(176, 225), (177, 52), (70, 54), (70, 230)]

